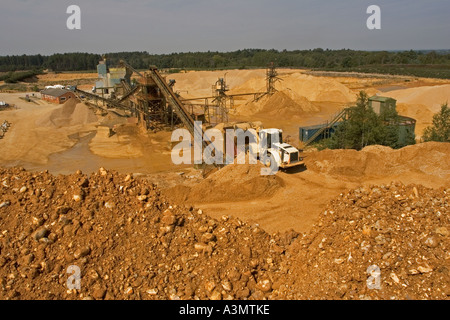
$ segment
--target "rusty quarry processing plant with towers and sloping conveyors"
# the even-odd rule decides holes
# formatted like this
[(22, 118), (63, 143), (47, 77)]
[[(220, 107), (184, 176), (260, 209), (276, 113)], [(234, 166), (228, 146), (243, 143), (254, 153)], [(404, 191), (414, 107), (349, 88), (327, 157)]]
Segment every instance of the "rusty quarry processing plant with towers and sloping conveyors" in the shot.
[[(189, 129), (186, 115), (190, 118), (188, 122), (198, 120), (209, 125), (228, 122), (228, 111), (233, 108), (234, 97), (253, 95), (258, 100), (273, 94), (276, 91), (274, 84), (279, 80), (272, 63), (266, 72), (265, 92), (230, 95), (227, 93), (229, 87), (226, 77), (223, 77), (212, 86), (211, 96), (183, 99), (173, 91), (175, 80), (167, 82), (154, 66), (148, 71), (140, 72), (121, 60), (118, 67), (110, 68), (108, 60), (103, 57), (97, 70), (100, 80), (96, 82), (92, 92), (75, 88), (78, 96), (93, 100), (93, 105), (104, 111), (134, 117), (144, 129), (151, 130), (169, 126), (173, 128), (180, 122)], [(138, 76), (136, 81), (131, 80), (133, 74)], [(204, 100), (204, 103), (198, 103), (200, 100)]]

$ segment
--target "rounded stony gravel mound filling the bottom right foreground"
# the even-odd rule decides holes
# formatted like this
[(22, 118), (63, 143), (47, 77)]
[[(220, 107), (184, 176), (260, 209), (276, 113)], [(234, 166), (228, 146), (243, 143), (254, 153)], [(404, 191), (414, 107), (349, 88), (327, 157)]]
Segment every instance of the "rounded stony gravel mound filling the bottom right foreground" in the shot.
[(279, 297), (448, 299), (449, 195), (399, 183), (342, 194), (289, 247)]

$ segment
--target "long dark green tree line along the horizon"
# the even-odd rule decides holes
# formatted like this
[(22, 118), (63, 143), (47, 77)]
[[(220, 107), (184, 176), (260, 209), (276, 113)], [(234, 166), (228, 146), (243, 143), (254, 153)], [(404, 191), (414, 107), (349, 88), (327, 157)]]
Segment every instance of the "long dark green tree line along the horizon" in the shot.
[[(359, 51), (350, 49), (330, 50), (266, 50), (243, 49), (232, 52), (183, 52), (150, 54), (147, 51), (114, 52), (105, 54), (112, 66), (123, 59), (136, 69), (149, 65), (174, 69), (227, 69), (260, 68), (275, 62), (278, 67), (313, 68), (335, 71), (361, 71), (412, 75), (423, 72), (430, 76), (450, 78), (450, 51)], [(33, 68), (53, 71), (96, 70), (102, 55), (93, 53), (58, 53), (44, 55), (12, 55), (0, 57), (0, 72), (30, 70)], [(434, 70), (434, 71), (433, 71)], [(419, 76), (422, 76), (418, 74)], [(423, 76), (427, 76), (424, 74)]]

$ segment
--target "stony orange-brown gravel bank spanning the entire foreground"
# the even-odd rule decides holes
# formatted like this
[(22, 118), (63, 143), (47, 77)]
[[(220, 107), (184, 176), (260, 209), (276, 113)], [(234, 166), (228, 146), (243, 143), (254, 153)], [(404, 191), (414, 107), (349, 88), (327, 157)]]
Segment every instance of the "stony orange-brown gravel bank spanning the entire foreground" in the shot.
[[(147, 180), (103, 168), (0, 169), (0, 180), (0, 299), (450, 296), (450, 189), (358, 188), (332, 201), (308, 234), (268, 235), (171, 205)], [(368, 287), (370, 266), (381, 289)], [(67, 286), (76, 284), (69, 267), (79, 268), (79, 289)]]

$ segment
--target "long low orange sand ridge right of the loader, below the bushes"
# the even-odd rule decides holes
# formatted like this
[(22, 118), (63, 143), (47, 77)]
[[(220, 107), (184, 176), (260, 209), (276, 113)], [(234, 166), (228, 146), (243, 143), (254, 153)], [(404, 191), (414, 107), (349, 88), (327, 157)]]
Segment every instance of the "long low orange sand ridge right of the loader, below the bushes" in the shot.
[(450, 181), (450, 143), (427, 142), (393, 150), (322, 150), (305, 157), (308, 170), (359, 181), (362, 178), (423, 174)]

